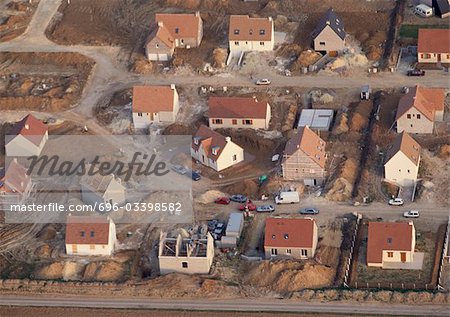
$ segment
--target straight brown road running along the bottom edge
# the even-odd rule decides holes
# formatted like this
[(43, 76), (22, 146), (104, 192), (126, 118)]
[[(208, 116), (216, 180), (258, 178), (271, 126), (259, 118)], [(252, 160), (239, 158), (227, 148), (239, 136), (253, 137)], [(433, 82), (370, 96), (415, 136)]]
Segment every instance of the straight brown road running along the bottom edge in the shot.
[[(448, 316), (446, 305), (382, 305), (351, 303), (310, 303), (294, 300), (271, 299), (233, 299), (233, 300), (161, 300), (146, 298), (58, 298), (2, 296), (3, 306), (45, 306), (45, 307), (84, 307), (84, 308), (129, 308), (129, 309), (177, 309), (206, 311), (247, 311), (247, 312), (304, 312), (334, 314), (406, 315), (406, 316)], [(0, 308), (1, 312), (1, 308)]]

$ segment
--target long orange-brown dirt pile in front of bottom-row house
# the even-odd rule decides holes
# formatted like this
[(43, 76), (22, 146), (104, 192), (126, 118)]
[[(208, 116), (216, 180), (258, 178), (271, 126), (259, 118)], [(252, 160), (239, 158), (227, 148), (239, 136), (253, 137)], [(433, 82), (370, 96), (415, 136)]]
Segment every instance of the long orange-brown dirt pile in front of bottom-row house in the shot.
[(243, 283), (284, 293), (329, 286), (334, 274), (332, 268), (311, 262), (263, 261), (244, 275)]

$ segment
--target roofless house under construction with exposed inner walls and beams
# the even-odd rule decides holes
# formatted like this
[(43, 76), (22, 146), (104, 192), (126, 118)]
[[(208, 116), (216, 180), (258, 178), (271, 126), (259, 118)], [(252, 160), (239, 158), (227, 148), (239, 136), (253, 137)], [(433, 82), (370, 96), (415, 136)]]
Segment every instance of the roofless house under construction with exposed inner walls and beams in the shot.
[(210, 233), (183, 231), (170, 238), (161, 232), (158, 258), (161, 274), (208, 274), (214, 259), (214, 239)]

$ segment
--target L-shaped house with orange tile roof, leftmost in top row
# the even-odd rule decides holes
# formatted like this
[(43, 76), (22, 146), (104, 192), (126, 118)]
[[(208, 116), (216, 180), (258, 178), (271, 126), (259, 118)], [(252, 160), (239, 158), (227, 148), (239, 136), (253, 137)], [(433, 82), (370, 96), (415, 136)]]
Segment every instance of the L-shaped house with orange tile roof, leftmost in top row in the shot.
[(203, 38), (203, 20), (200, 12), (157, 13), (157, 25), (145, 44), (145, 53), (151, 61), (168, 61), (175, 48), (200, 46)]

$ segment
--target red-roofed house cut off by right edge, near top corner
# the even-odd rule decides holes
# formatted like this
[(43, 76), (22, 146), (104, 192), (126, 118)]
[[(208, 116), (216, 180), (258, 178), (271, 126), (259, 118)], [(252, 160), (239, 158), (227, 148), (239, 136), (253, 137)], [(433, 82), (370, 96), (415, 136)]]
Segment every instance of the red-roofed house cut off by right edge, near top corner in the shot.
[(450, 29), (419, 29), (417, 59), (423, 64), (450, 64)]

